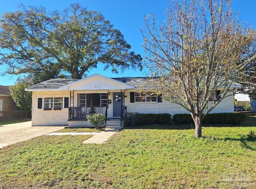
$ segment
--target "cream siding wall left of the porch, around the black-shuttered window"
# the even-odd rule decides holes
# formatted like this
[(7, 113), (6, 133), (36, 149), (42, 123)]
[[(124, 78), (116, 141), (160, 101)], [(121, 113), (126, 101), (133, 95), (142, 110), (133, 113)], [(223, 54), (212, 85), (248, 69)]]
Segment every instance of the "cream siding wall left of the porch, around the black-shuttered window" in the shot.
[[(44, 110), (44, 98), (63, 97), (61, 110)], [(64, 97), (70, 98), (70, 91), (34, 91), (32, 96), (32, 126), (68, 125), (68, 108), (64, 108)], [(42, 98), (42, 108), (38, 108), (38, 98)]]

